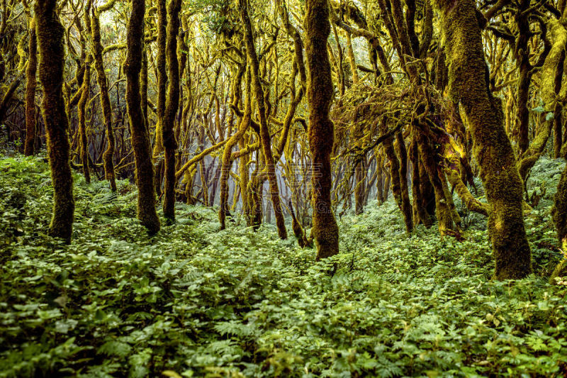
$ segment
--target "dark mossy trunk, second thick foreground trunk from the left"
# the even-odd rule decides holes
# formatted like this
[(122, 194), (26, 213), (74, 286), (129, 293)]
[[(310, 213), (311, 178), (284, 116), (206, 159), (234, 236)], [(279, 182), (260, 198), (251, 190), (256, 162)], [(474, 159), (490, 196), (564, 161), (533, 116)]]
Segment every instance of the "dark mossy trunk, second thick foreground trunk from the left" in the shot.
[(140, 106), (140, 70), (142, 67), (142, 38), (144, 36), (145, 0), (132, 1), (132, 13), (128, 20), (126, 44), (128, 51), (124, 70), (126, 74), (126, 105), (130, 118), (130, 134), (136, 162), (137, 217), (150, 233), (160, 228), (155, 210), (154, 167), (150, 137), (145, 127)]

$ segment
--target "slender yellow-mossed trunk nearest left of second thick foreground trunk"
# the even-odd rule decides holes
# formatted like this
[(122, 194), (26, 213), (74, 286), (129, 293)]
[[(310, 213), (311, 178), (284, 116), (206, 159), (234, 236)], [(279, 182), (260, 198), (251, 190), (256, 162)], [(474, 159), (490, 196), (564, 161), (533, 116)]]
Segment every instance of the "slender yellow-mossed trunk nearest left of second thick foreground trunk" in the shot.
[(104, 70), (103, 64), (103, 47), (101, 43), (101, 23), (100, 23), (100, 12), (108, 9), (99, 7), (93, 12), (91, 17), (91, 38), (93, 44), (93, 55), (94, 55), (94, 68), (96, 70), (96, 79), (99, 82), (99, 88), (101, 89), (101, 108), (103, 122), (106, 129), (106, 150), (102, 155), (104, 174), (108, 183), (111, 186), (112, 191), (116, 191), (116, 174), (114, 172), (114, 130), (112, 121), (112, 108), (110, 94), (108, 93), (108, 80), (106, 79), (106, 72)]

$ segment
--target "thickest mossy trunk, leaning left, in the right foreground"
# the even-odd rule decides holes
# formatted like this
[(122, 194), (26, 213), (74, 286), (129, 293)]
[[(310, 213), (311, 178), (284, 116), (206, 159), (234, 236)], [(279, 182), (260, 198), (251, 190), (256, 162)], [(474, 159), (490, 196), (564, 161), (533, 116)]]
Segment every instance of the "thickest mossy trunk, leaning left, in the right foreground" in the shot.
[(503, 125), (502, 104), (488, 87), (481, 28), (473, 0), (436, 0), (449, 62), (449, 94), (460, 102), (474, 142), (473, 153), (488, 199), (488, 233), (495, 279), (532, 272), (522, 214), (522, 180)]

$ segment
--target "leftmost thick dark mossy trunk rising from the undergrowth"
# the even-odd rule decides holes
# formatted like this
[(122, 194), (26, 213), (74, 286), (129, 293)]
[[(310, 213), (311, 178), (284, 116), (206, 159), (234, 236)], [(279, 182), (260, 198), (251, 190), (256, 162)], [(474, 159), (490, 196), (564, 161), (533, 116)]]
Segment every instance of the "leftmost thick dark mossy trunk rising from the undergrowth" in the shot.
[(74, 219), (73, 177), (69, 165), (69, 121), (63, 100), (64, 28), (57, 16), (57, 0), (35, 1), (41, 108), (54, 189), (50, 235), (71, 240)]

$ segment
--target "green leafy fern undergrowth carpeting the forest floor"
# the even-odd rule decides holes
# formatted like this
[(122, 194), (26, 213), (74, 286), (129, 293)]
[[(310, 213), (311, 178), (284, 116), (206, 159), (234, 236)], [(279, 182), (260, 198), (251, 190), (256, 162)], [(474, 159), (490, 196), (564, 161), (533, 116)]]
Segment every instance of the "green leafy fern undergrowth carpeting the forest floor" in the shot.
[(464, 214), (463, 242), (408, 237), (392, 200), (343, 216), (340, 254), (315, 262), (199, 206), (150, 238), (135, 187), (76, 174), (64, 245), (46, 235), (47, 164), (1, 156), (0, 377), (564, 377), (567, 286), (547, 279), (561, 167), (541, 160), (529, 182), (546, 188), (526, 218), (534, 274), (492, 282), (484, 218)]

